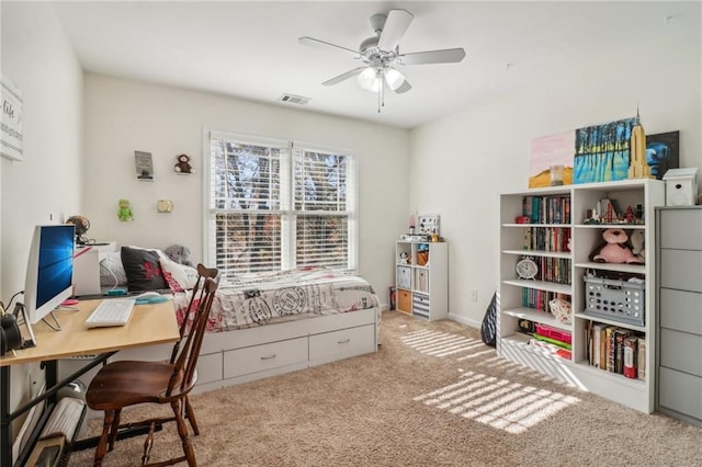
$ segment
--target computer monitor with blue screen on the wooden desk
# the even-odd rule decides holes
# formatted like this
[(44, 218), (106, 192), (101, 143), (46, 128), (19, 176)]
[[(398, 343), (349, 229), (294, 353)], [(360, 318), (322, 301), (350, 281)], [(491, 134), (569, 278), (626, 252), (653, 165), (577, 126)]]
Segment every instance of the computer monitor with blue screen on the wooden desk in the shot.
[(72, 295), (75, 237), (73, 224), (34, 228), (24, 283), (24, 307), (32, 324)]

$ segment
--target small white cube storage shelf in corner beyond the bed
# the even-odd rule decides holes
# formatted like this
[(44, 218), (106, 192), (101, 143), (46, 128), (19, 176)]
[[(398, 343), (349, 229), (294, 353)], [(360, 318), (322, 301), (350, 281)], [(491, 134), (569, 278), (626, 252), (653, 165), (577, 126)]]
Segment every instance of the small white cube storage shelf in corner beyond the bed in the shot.
[(430, 321), (448, 318), (449, 244), (398, 240), (395, 262), (397, 310)]

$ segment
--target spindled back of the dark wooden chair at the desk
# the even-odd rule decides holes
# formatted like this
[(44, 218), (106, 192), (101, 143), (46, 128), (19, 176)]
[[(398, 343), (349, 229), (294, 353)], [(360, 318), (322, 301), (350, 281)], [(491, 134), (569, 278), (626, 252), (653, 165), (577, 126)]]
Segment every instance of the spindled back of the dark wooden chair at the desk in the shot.
[[(200, 283), (200, 280), (197, 282)], [(194, 317), (184, 343), (179, 345), (180, 349), (176, 352), (173, 374), (168, 384), (166, 397), (170, 397), (174, 392), (188, 392), (195, 384), (194, 376), (196, 374), (197, 357), (200, 356), (202, 340), (205, 335), (207, 319), (210, 318), (210, 310), (212, 309), (218, 285), (219, 276), (215, 275), (215, 277), (203, 277), (202, 287), (199, 287), (197, 291), (193, 289), (192, 309), (190, 312), (194, 314)], [(195, 298), (196, 295), (197, 298)], [(188, 316), (184, 317), (184, 319), (190, 321)]]

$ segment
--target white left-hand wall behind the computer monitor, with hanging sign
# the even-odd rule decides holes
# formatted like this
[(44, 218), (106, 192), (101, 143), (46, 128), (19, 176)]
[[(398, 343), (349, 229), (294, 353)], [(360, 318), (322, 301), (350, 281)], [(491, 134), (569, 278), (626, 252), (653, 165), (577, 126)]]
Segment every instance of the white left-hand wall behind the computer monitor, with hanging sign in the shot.
[[(50, 4), (3, 1), (0, 9), (2, 72), (24, 98), (24, 160), (0, 161), (0, 298), (7, 305), (24, 288), (34, 226), (81, 208), (82, 70)], [(12, 367), (13, 407), (29, 371)]]

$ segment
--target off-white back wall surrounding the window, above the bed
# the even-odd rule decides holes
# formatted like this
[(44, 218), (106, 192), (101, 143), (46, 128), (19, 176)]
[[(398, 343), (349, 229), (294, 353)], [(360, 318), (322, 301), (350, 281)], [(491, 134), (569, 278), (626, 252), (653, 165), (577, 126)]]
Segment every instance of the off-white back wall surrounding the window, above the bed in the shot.
[[(348, 148), (359, 160), (359, 271), (387, 304), (394, 241), (407, 219), (408, 130), (100, 75), (86, 75), (84, 93), (89, 237), (150, 248), (181, 243), (202, 261), (203, 126)], [(135, 150), (151, 152), (152, 182), (136, 179)], [(173, 171), (183, 152), (196, 175)], [(117, 219), (122, 197), (134, 221)], [(173, 201), (172, 214), (156, 212), (161, 198)]]

